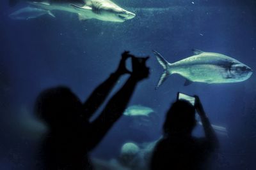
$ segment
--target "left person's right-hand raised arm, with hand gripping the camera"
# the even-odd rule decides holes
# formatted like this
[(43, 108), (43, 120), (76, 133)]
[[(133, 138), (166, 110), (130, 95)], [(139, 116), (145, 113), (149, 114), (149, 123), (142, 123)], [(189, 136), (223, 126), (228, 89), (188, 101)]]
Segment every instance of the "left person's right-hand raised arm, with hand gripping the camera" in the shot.
[(120, 118), (129, 103), (137, 83), (148, 77), (147, 58), (132, 57), (132, 74), (124, 86), (109, 100), (106, 108), (100, 113), (91, 126), (89, 148), (94, 148), (112, 125)]

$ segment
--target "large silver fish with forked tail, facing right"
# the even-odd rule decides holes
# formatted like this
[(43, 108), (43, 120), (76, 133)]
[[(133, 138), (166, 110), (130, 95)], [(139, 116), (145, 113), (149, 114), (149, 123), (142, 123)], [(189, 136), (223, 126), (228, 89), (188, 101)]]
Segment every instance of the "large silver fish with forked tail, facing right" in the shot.
[(203, 83), (235, 83), (247, 80), (252, 75), (250, 67), (221, 53), (194, 50), (195, 55), (171, 64), (160, 53), (153, 52), (159, 64), (164, 68), (157, 87), (170, 74), (184, 76), (187, 79), (184, 85), (189, 85), (193, 81)]

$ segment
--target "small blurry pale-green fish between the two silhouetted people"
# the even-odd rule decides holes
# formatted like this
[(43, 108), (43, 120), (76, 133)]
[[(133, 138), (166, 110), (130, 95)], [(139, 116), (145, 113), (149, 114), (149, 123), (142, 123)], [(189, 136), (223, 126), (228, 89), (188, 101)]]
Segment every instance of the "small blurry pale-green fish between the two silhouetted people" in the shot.
[(131, 117), (148, 116), (152, 112), (154, 112), (154, 110), (152, 110), (152, 108), (148, 108), (148, 107), (141, 106), (141, 105), (133, 105), (133, 106), (129, 106), (129, 108), (127, 108), (124, 111), (124, 115), (131, 116)]

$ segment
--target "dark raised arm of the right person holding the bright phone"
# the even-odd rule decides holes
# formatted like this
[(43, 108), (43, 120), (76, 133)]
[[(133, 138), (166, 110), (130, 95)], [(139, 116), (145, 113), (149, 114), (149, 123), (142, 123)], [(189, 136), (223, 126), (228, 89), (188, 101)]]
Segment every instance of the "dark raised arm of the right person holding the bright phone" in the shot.
[(205, 138), (207, 139), (207, 141), (209, 141), (212, 149), (218, 148), (219, 147), (218, 138), (216, 136), (216, 133), (214, 132), (214, 129), (211, 126), (209, 119), (205, 114), (202, 103), (200, 102), (200, 99), (198, 96), (195, 96), (195, 99), (196, 99), (195, 108), (202, 121), (202, 125), (204, 127), (204, 132), (205, 132)]

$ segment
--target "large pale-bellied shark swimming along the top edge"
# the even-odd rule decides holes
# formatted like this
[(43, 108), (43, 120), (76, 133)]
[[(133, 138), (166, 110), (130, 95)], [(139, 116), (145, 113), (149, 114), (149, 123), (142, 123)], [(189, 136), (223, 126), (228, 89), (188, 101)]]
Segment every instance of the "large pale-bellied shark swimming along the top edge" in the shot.
[[(18, 0), (9, 2), (10, 6), (14, 6)], [(94, 18), (110, 22), (124, 22), (135, 17), (134, 13), (124, 10), (109, 0), (30, 0), (26, 2), (47, 11), (60, 10), (77, 13), (79, 20)]]

